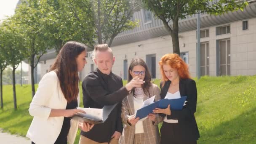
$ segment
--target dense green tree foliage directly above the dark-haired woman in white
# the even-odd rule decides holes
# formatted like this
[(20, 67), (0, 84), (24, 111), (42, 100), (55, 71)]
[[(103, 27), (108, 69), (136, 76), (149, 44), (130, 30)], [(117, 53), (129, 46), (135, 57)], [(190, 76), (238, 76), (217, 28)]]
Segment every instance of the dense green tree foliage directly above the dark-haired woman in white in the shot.
[[(45, 19), (42, 21), (45, 35), (49, 43), (59, 53), (61, 47), (70, 40), (79, 41), (91, 46), (93, 43), (93, 24), (86, 22), (82, 24), (78, 21), (70, 10), (66, 1), (63, 0), (43, 0), (45, 1), (43, 11)], [(89, 19), (88, 15), (79, 16)]]

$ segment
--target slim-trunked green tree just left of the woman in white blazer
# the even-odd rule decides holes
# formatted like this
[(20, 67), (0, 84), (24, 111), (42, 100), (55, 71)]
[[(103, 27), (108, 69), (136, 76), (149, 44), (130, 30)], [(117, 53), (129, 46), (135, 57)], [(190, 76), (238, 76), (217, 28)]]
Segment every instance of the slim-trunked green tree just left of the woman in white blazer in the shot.
[(35, 95), (34, 69), (40, 61), (41, 56), (50, 48), (51, 43), (46, 35), (44, 27), (45, 19), (50, 11), (45, 9), (47, 3), (45, 0), (24, 0), (16, 8), (16, 22), (19, 23), (22, 34), (24, 35), (24, 44), (26, 48), (26, 59), (31, 67), (31, 85), (32, 96)]

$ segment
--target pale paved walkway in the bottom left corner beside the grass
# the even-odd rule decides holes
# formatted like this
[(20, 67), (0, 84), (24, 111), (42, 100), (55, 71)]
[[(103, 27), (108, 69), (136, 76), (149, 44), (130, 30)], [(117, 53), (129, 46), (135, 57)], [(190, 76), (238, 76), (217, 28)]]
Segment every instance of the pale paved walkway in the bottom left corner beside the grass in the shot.
[(0, 129), (0, 144), (31, 144), (29, 139), (2, 132)]

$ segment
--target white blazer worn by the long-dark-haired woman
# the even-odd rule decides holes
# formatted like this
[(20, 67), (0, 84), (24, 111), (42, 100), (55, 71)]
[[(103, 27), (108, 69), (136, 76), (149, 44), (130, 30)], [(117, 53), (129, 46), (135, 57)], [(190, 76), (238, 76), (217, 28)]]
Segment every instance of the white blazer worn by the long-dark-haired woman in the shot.
[[(77, 96), (79, 106), (80, 97)], [(56, 72), (45, 74), (40, 80), (34, 98), (29, 107), (29, 114), (33, 116), (27, 137), (35, 144), (53, 144), (61, 132), (64, 117), (49, 117), (51, 109), (66, 109), (65, 99)], [(70, 129), (67, 136), (69, 144), (74, 144), (78, 122), (70, 120)]]

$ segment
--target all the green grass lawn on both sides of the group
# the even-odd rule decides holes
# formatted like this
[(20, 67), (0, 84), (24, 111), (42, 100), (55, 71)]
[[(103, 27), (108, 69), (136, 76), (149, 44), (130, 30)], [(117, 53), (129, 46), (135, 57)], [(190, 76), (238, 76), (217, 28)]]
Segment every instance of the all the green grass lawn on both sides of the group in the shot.
[[(154, 83), (159, 85), (159, 80)], [(198, 144), (256, 144), (256, 76), (201, 77), (196, 83)], [(32, 121), (28, 113), (31, 86), (16, 85), (16, 92), (15, 111), (12, 86), (3, 87), (0, 128), (25, 136)], [(75, 144), (78, 140), (79, 132)]]

